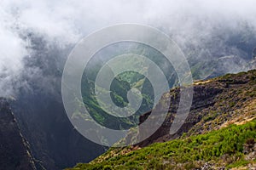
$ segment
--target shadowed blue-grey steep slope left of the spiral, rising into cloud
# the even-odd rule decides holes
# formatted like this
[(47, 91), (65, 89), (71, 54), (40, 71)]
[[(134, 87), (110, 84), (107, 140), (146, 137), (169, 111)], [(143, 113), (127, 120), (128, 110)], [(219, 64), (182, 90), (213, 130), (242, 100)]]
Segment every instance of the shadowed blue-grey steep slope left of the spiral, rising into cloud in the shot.
[(24, 59), (26, 69), (15, 80), (17, 94), (10, 107), (31, 146), (32, 156), (49, 170), (91, 161), (105, 149), (73, 128), (61, 99), (61, 65), (70, 48), (49, 47), (38, 34), (31, 33), (27, 38), (32, 53)]

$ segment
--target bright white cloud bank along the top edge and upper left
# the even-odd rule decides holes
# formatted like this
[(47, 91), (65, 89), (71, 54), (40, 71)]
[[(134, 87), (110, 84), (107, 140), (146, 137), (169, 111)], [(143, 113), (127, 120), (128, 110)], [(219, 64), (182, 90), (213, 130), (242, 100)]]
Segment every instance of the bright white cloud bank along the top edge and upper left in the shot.
[(1, 0), (0, 88), (9, 86), (9, 79), (18, 77), (23, 69), (29, 44), (20, 35), (27, 31), (60, 47), (119, 23), (156, 26), (167, 34), (185, 37), (199, 33), (207, 37), (214, 26), (236, 29), (245, 21), (254, 28), (255, 7), (255, 0)]

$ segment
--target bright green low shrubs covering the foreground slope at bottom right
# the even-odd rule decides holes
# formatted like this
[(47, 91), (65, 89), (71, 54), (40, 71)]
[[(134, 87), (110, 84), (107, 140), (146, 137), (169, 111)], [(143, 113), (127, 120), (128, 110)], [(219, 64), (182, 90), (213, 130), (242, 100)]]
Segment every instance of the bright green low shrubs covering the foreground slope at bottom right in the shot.
[[(139, 150), (110, 149), (90, 163), (70, 169), (193, 169), (211, 162), (214, 166), (241, 167), (245, 160), (244, 144), (255, 142), (256, 120), (230, 125), (205, 134), (166, 143), (155, 143)], [(128, 150), (128, 151), (124, 151)], [(130, 150), (130, 151), (129, 151)]]

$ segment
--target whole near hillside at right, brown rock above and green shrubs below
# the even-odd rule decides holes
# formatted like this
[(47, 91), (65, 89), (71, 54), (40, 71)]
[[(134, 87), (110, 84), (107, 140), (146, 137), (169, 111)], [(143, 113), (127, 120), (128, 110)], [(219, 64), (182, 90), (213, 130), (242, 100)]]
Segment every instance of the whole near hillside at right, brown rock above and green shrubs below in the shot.
[[(256, 70), (195, 82), (189, 116), (177, 133), (169, 130), (177, 111), (179, 88), (165, 122), (142, 143), (108, 150), (71, 169), (225, 169), (256, 167)], [(151, 112), (140, 116), (146, 120)], [(127, 138), (129, 139), (129, 138)], [(164, 143), (163, 143), (164, 142)]]

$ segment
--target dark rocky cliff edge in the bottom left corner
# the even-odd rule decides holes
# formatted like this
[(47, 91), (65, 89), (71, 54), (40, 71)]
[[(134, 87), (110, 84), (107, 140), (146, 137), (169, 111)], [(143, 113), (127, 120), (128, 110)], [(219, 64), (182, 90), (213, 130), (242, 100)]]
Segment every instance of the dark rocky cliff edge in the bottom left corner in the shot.
[(0, 169), (36, 169), (6, 99), (0, 99)]

